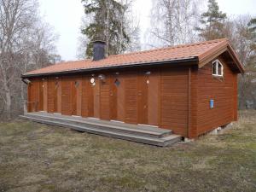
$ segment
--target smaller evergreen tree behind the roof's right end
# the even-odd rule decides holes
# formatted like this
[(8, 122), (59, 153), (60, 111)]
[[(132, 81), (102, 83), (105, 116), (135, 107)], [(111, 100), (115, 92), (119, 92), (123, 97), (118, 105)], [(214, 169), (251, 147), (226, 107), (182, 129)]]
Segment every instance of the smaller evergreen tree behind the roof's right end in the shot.
[(224, 38), (224, 22), (226, 19), (227, 15), (219, 10), (216, 0), (209, 0), (207, 12), (201, 15), (202, 27), (197, 27), (196, 30), (200, 32), (199, 35), (205, 40)]

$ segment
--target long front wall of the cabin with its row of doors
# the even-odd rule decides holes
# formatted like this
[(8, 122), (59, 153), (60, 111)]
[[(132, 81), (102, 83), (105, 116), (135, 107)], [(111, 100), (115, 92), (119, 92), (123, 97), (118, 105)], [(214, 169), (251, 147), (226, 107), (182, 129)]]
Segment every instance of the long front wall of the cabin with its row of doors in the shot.
[[(131, 124), (155, 125), (186, 134), (188, 67), (50, 77), (32, 80), (29, 100), (43, 82), (42, 110)], [(95, 79), (95, 85), (90, 79)], [(46, 98), (45, 98), (46, 96)], [(47, 103), (45, 103), (47, 102)], [(36, 109), (38, 110), (38, 109)]]

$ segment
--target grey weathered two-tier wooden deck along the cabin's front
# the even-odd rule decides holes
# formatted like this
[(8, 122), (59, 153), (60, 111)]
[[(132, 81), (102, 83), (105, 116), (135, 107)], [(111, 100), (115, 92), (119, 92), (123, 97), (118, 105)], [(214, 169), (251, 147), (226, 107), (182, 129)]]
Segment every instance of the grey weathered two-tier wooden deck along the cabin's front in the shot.
[(20, 115), (20, 119), (32, 120), (47, 125), (68, 127), (77, 131), (115, 137), (137, 143), (166, 147), (181, 141), (181, 136), (172, 131), (148, 125), (131, 125), (102, 119), (67, 116), (59, 113), (34, 112)]

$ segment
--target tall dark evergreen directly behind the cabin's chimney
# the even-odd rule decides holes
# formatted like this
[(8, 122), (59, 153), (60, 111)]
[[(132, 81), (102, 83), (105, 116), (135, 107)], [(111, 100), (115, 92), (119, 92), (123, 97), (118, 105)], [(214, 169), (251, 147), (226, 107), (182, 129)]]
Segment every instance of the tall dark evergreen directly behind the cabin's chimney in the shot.
[(130, 37), (125, 28), (125, 10), (127, 5), (116, 0), (82, 0), (84, 13), (90, 18), (82, 29), (88, 39), (86, 55), (92, 55), (94, 40), (104, 40), (107, 43), (107, 54), (119, 54), (128, 47)]

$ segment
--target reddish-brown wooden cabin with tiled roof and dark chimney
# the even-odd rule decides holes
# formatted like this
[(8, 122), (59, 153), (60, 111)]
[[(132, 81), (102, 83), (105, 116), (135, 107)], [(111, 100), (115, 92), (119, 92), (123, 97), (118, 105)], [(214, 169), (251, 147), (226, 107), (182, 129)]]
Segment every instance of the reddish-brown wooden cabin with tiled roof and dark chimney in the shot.
[(68, 61), (22, 75), (28, 112), (153, 125), (195, 138), (237, 120), (241, 61), (227, 39)]

